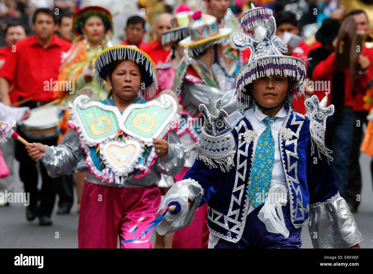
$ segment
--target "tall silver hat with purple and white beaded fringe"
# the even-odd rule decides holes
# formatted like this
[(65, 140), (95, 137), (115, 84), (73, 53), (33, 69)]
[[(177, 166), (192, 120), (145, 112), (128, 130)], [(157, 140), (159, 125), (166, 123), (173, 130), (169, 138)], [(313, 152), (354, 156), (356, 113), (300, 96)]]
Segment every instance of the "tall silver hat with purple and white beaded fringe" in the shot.
[(276, 21), (272, 10), (254, 7), (241, 18), (241, 32), (232, 34), (232, 45), (235, 48), (250, 48), (248, 64), (236, 75), (237, 106), (246, 108), (253, 103), (251, 95), (244, 94), (245, 86), (262, 76), (281, 75), (290, 77), (291, 98), (304, 95), (306, 69), (302, 60), (284, 56), (288, 51), (285, 42), (276, 36)]

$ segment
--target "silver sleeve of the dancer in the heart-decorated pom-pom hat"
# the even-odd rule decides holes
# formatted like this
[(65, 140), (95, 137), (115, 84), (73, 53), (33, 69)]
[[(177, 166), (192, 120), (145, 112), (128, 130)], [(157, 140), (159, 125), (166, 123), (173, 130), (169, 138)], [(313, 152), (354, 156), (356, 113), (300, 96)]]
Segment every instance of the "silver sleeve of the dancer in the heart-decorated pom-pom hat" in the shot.
[(209, 103), (210, 96), (213, 102), (220, 98), (220, 108), (223, 108), (228, 113), (232, 113), (237, 109), (237, 102), (233, 100), (236, 89), (221, 91), (210, 86), (184, 81), (181, 90), (180, 104), (193, 117), (200, 114), (198, 109), (200, 104)]

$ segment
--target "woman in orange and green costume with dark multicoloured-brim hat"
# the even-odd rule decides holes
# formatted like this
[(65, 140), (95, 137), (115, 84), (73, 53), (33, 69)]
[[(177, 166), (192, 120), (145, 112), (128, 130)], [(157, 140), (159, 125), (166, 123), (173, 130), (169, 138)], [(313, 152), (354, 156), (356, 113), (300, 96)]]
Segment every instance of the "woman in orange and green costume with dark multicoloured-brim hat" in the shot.
[[(92, 100), (103, 100), (106, 93), (98, 86), (94, 79), (94, 62), (98, 54), (107, 48), (107, 41), (113, 33), (112, 15), (100, 6), (88, 6), (77, 11), (73, 18), (72, 34), (76, 41), (70, 50), (63, 55), (60, 75), (57, 81), (66, 83), (65, 86), (56, 85), (55, 92), (62, 100), (60, 104), (67, 105), (73, 100), (83, 87), (93, 91)], [(69, 82), (68, 82), (69, 81)], [(73, 83), (69, 84), (68, 83)], [(73, 91), (69, 87), (73, 87)], [(61, 88), (61, 90), (60, 90)], [(57, 144), (68, 132), (69, 110), (66, 109), (61, 123), (61, 133)], [(78, 208), (82, 198), (85, 174), (77, 173), (75, 176), (76, 190), (78, 192)]]

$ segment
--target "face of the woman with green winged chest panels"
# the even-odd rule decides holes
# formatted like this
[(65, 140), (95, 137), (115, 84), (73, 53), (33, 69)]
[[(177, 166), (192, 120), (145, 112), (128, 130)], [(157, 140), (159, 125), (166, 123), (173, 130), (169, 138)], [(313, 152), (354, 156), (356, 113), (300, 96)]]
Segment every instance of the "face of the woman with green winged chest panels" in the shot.
[[(110, 83), (109, 76), (106, 81)], [(133, 100), (141, 86), (140, 69), (134, 62), (123, 60), (112, 72), (113, 93), (122, 100)]]

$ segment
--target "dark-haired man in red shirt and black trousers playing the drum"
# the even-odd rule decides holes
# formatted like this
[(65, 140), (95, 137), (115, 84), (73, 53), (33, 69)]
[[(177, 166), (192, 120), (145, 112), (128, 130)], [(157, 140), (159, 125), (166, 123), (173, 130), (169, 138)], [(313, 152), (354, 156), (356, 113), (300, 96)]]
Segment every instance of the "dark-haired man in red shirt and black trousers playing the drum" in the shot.
[[(35, 108), (56, 98), (53, 88), (49, 88), (48, 83), (57, 80), (62, 52), (68, 51), (71, 46), (69, 42), (54, 34), (57, 26), (54, 11), (44, 8), (35, 11), (32, 18), (35, 35), (16, 42), (15, 51), (9, 54), (0, 70), (1, 102), (10, 105), (11, 102), (29, 98), (31, 100), (22, 106)], [(10, 82), (14, 83), (14, 90), (9, 94)], [(23, 135), (21, 129), (18, 131)], [(28, 141), (41, 140), (28, 138)], [(57, 136), (43, 142), (56, 145)], [(39, 194), (36, 163), (28, 157), (25, 147), (20, 142), (16, 143), (16, 158), (20, 164), (19, 176), (24, 183), (25, 192), (30, 193), (26, 210), (27, 220), (34, 220), (38, 215), (40, 225), (51, 225), (50, 216), (56, 199), (56, 180), (59, 179), (49, 177), (41, 165), (43, 185)]]

